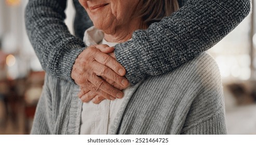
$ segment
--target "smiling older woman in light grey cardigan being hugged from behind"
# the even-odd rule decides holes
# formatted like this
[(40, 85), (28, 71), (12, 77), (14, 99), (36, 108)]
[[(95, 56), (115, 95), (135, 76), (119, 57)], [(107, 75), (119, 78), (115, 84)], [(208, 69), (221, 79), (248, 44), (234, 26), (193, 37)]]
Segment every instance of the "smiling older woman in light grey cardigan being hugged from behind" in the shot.
[[(178, 8), (176, 0), (79, 2), (95, 25), (84, 35), (95, 55)], [(82, 103), (79, 91), (78, 85), (46, 75), (31, 133), (226, 134), (219, 69), (206, 52), (168, 74), (144, 78), (121, 99)]]

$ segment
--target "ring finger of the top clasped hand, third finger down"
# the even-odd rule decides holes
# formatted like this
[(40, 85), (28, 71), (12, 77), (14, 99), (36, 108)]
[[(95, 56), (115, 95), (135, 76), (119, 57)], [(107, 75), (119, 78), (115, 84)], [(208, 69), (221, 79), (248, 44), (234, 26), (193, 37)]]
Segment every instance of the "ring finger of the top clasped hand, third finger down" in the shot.
[[(92, 74), (92, 76), (89, 77), (88, 80), (95, 86), (95, 87), (91, 86), (92, 91), (98, 92), (103, 97), (106, 97), (104, 96), (106, 94), (116, 98), (122, 98), (124, 96), (122, 91), (114, 88), (112, 85), (107, 83), (102, 78), (96, 76), (95, 74)], [(110, 97), (107, 99), (110, 99)]]

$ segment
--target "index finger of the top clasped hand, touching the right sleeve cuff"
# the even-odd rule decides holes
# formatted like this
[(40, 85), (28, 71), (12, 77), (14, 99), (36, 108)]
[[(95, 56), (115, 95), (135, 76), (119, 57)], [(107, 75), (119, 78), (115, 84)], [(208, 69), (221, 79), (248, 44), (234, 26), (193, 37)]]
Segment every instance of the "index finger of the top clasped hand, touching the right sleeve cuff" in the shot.
[(116, 72), (116, 74), (120, 76), (124, 76), (126, 73), (125, 68), (119, 64), (115, 59), (113, 59), (110, 55), (105, 53), (100, 53), (99, 55), (95, 56), (95, 60)]

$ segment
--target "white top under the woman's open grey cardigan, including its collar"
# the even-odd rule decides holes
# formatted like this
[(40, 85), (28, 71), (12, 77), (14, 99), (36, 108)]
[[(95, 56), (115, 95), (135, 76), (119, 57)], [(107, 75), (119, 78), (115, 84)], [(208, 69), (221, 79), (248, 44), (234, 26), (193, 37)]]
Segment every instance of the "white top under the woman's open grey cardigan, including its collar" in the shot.
[[(115, 43), (107, 42), (104, 39), (103, 32), (94, 26), (86, 30), (84, 42), (86, 46), (106, 44), (113, 47), (116, 45)], [(124, 97), (127, 96), (128, 90), (129, 87), (123, 91)], [(100, 104), (93, 104), (92, 101), (84, 103), (81, 114), (80, 134), (104, 135), (109, 133), (116, 114), (123, 103), (123, 98), (117, 98), (112, 101), (105, 99)]]

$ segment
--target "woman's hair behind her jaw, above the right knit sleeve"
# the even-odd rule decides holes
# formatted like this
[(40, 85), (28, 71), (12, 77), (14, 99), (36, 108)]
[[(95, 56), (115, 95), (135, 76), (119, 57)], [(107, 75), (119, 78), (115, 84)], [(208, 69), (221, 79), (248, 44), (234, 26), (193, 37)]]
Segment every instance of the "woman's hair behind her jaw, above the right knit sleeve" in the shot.
[(177, 0), (140, 0), (134, 16), (142, 18), (143, 24), (150, 26), (150, 24), (170, 16), (178, 9)]

